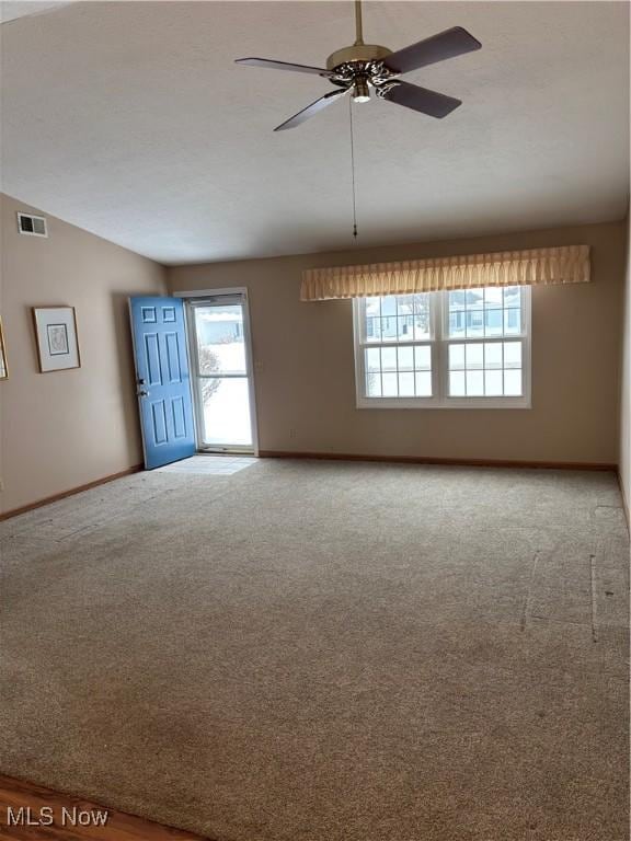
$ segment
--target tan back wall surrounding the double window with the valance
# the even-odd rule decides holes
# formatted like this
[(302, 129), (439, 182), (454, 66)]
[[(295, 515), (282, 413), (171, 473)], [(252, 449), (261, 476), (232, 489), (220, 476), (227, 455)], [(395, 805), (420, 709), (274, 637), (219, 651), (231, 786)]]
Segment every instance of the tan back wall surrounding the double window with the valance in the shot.
[[(593, 283), (532, 293), (531, 410), (357, 410), (349, 301), (301, 303), (302, 268), (587, 243)], [(624, 226), (170, 268), (172, 290), (245, 286), (262, 450), (616, 463)]]

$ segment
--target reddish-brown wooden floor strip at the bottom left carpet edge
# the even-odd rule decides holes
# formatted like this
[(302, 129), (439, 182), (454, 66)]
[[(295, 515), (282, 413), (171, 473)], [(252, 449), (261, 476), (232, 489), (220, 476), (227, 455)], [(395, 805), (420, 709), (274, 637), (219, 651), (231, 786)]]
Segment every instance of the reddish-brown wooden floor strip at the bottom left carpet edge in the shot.
[[(80, 826), (81, 822), (84, 826)], [(48, 838), (57, 841), (207, 841), (191, 832), (124, 815), (79, 797), (67, 797), (1, 774), (0, 838)]]

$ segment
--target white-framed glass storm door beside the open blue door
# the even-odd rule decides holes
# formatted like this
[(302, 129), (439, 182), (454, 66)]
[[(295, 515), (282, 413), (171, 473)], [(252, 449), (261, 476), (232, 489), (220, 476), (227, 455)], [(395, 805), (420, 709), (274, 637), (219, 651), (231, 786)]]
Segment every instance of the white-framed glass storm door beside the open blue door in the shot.
[(199, 449), (254, 450), (250, 331), (243, 295), (188, 302)]

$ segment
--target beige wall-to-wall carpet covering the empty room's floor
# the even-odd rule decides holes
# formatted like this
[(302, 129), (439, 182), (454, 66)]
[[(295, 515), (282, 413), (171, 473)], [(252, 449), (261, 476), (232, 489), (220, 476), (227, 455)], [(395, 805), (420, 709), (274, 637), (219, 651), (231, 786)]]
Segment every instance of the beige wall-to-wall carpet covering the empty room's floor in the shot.
[(7, 774), (218, 841), (628, 838), (611, 474), (261, 461), (0, 535)]

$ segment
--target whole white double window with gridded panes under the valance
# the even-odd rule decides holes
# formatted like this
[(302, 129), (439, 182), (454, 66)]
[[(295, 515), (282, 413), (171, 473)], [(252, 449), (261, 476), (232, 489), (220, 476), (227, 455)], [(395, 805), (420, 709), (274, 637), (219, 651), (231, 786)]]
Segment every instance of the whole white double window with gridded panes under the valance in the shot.
[(530, 288), (356, 298), (357, 405), (530, 405)]

